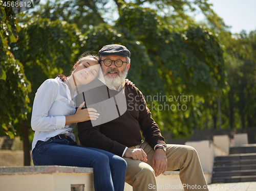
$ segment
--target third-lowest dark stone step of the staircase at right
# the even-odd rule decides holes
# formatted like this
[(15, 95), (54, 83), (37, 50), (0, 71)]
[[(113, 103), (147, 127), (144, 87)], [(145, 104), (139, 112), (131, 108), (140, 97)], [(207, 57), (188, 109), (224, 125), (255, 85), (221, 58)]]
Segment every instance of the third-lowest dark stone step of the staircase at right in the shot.
[(214, 171), (229, 171), (229, 170), (250, 170), (250, 169), (255, 169), (256, 171), (256, 164), (222, 164), (222, 165), (215, 165), (214, 166)]

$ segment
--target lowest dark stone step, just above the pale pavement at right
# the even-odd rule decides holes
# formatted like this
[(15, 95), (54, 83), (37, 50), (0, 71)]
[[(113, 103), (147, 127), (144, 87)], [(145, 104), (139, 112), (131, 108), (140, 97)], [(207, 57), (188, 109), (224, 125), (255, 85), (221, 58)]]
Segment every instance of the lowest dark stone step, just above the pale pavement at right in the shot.
[(226, 177), (215, 177), (211, 179), (211, 183), (231, 183), (231, 182), (251, 182), (255, 181), (256, 176), (226, 176)]

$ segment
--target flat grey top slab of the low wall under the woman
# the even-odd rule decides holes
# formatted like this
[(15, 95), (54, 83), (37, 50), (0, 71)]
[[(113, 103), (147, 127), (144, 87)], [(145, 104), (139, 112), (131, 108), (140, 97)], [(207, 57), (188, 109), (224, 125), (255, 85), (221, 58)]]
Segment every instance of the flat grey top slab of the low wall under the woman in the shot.
[(58, 165), (0, 167), (0, 175), (17, 173), (93, 173), (93, 168)]

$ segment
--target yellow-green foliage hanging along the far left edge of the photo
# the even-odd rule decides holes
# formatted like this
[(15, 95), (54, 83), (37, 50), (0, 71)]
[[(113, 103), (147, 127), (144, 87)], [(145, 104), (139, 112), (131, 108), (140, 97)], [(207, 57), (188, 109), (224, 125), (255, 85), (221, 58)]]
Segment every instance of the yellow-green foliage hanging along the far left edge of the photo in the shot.
[[(2, 4), (3, 2), (1, 2)], [(21, 123), (31, 112), (29, 107), (30, 99), (28, 97), (31, 91), (30, 82), (25, 76), (24, 66), (13, 55), (10, 46), (18, 40), (17, 19), (11, 15), (11, 7), (0, 7), (1, 32), (0, 39), (0, 87), (1, 87), (1, 105), (0, 105), (0, 136), (21, 135)]]

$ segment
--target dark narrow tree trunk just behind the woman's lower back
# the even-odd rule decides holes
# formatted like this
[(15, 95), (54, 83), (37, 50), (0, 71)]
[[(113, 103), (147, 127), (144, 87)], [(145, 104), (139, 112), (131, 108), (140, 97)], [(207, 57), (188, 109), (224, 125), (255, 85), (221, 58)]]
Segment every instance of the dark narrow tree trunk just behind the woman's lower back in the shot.
[(30, 144), (29, 144), (29, 129), (26, 125), (26, 120), (22, 122), (22, 135), (23, 135), (23, 151), (24, 151), (24, 165), (30, 166)]

